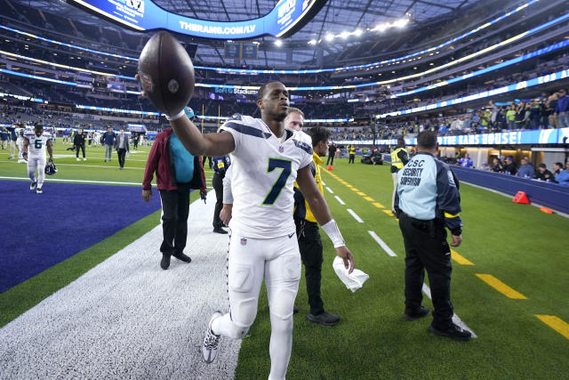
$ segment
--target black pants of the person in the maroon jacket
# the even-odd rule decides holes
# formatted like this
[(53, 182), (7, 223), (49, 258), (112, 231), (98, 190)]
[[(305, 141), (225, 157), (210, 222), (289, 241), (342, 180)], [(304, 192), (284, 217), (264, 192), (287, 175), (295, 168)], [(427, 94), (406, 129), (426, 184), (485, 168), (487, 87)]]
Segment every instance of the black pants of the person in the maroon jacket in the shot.
[(160, 252), (181, 254), (188, 238), (189, 183), (176, 183), (178, 190), (160, 190), (162, 234)]

